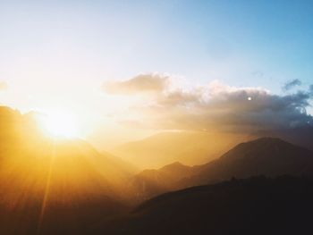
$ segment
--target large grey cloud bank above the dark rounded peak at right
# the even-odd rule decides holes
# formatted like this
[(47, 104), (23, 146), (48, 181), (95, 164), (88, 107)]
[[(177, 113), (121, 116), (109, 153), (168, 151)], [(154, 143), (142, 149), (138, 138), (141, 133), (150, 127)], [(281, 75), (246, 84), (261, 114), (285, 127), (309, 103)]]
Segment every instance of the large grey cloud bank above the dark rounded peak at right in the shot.
[(312, 120), (306, 113), (309, 98), (308, 92), (280, 97), (263, 88), (211, 84), (193, 92), (165, 94), (150, 107), (150, 113), (158, 117), (159, 128), (272, 130), (303, 126)]

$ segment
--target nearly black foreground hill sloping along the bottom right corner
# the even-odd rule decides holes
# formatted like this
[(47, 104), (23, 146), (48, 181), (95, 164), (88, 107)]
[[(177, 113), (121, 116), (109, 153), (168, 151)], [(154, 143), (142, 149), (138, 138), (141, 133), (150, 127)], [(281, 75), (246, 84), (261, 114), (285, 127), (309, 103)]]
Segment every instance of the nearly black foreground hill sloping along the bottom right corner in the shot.
[[(313, 180), (255, 177), (155, 197), (97, 226), (108, 234), (313, 234)], [(105, 234), (105, 233), (103, 233)]]

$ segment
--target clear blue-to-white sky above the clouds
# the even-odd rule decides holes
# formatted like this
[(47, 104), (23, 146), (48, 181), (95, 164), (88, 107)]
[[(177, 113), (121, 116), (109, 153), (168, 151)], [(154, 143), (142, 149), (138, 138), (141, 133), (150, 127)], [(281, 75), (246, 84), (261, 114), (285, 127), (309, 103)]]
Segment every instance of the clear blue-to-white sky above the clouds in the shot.
[(313, 1), (0, 1), (0, 101), (85, 104), (97, 115), (103, 82), (140, 72), (276, 94), (290, 80), (307, 88), (312, 13)]

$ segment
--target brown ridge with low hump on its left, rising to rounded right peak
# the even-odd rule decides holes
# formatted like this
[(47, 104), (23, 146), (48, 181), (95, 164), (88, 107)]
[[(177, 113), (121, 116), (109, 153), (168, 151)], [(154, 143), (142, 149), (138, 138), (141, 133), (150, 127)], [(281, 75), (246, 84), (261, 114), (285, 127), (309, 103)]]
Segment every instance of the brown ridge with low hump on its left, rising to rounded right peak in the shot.
[[(180, 169), (177, 171), (175, 168)], [(169, 164), (159, 170), (145, 170), (132, 181), (141, 199), (175, 189), (205, 185), (233, 177), (279, 176), (313, 173), (313, 153), (279, 138), (258, 138), (241, 143), (207, 164)]]

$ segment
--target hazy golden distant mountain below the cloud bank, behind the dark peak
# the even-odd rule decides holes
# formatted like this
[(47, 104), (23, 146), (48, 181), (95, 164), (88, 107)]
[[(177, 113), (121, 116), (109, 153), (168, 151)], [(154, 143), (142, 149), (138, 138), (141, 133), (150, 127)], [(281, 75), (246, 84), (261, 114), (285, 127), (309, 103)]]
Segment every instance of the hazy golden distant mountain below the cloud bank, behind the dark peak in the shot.
[(251, 136), (208, 132), (162, 132), (138, 141), (125, 143), (111, 150), (123, 160), (141, 170), (157, 169), (165, 164), (180, 162), (205, 164), (222, 155)]

